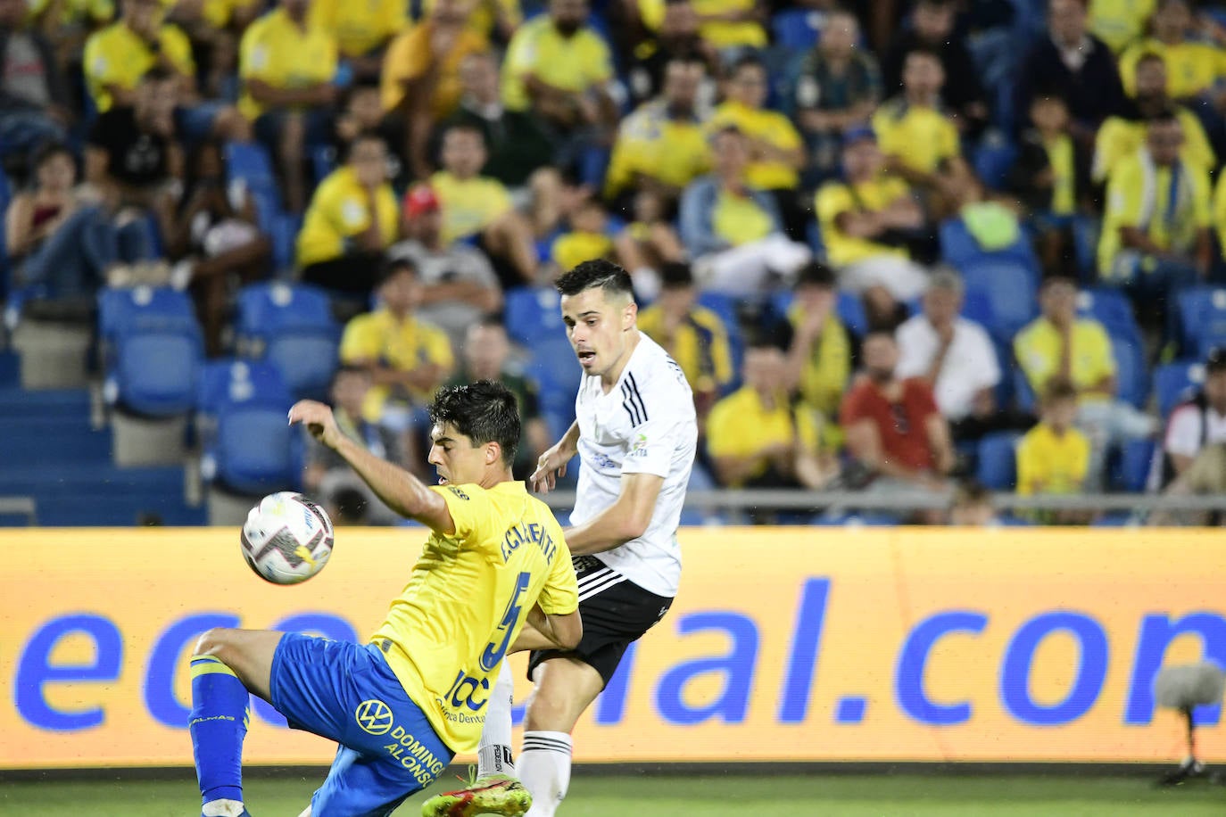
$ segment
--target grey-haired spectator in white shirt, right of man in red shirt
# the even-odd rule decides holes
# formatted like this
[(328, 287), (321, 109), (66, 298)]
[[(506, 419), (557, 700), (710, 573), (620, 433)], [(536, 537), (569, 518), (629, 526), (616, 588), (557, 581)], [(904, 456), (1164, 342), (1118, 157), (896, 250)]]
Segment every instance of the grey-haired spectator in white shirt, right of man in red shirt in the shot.
[[(961, 317), (962, 279), (950, 268), (932, 274), (923, 311), (895, 332), (900, 378), (922, 377), (940, 413), (954, 425), (982, 427), (997, 413), (993, 388), (1000, 382), (996, 348), (982, 326)], [(966, 423), (971, 420), (971, 423)], [(982, 430), (978, 431), (982, 434)]]

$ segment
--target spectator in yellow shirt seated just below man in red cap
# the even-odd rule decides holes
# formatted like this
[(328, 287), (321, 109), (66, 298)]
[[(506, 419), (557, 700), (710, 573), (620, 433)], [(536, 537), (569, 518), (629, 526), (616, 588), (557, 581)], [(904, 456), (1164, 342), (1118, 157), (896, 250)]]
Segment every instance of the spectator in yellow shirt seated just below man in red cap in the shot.
[(409, 453), (428, 427), (427, 404), (455, 367), (446, 333), (416, 316), (421, 300), (413, 262), (389, 261), (379, 282), (379, 309), (346, 325), (340, 349), (342, 364), (369, 371), (374, 382), (362, 407), (363, 419), (405, 432)]

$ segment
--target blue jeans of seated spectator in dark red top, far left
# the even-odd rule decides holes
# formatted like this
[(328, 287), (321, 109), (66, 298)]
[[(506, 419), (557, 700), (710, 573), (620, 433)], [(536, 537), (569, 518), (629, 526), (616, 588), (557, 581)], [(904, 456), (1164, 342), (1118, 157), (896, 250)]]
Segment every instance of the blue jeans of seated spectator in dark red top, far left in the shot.
[(152, 257), (148, 219), (115, 227), (102, 207), (82, 207), (26, 256), (20, 278), (49, 298), (92, 296), (112, 266)]

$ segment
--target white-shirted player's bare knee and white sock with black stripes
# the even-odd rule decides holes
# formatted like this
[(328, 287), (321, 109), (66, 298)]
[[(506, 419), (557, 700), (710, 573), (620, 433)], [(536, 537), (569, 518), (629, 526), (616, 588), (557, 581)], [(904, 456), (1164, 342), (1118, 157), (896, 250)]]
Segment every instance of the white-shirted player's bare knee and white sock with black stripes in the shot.
[(570, 732), (604, 679), (585, 661), (559, 657), (537, 666), (532, 680), (519, 772), (532, 795), (527, 817), (553, 817), (570, 788)]

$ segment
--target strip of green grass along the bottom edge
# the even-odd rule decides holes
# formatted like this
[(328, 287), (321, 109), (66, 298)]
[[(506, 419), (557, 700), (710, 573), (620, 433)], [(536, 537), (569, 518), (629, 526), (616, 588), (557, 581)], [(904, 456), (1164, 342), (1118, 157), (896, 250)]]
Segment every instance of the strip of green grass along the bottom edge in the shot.
[[(452, 788), (444, 780), (436, 784)], [(256, 817), (294, 817), (318, 778), (249, 780)], [(433, 793), (433, 790), (432, 790)], [(397, 811), (416, 817), (418, 794)], [(0, 815), (185, 817), (199, 813), (191, 780), (48, 781), (0, 785)], [(809, 777), (591, 777), (580, 773), (563, 817), (767, 817), (772, 815), (1073, 815), (1128, 817), (1226, 813), (1226, 788), (1157, 789), (1144, 778), (840, 774)], [(326, 815), (321, 817), (327, 817)]]

